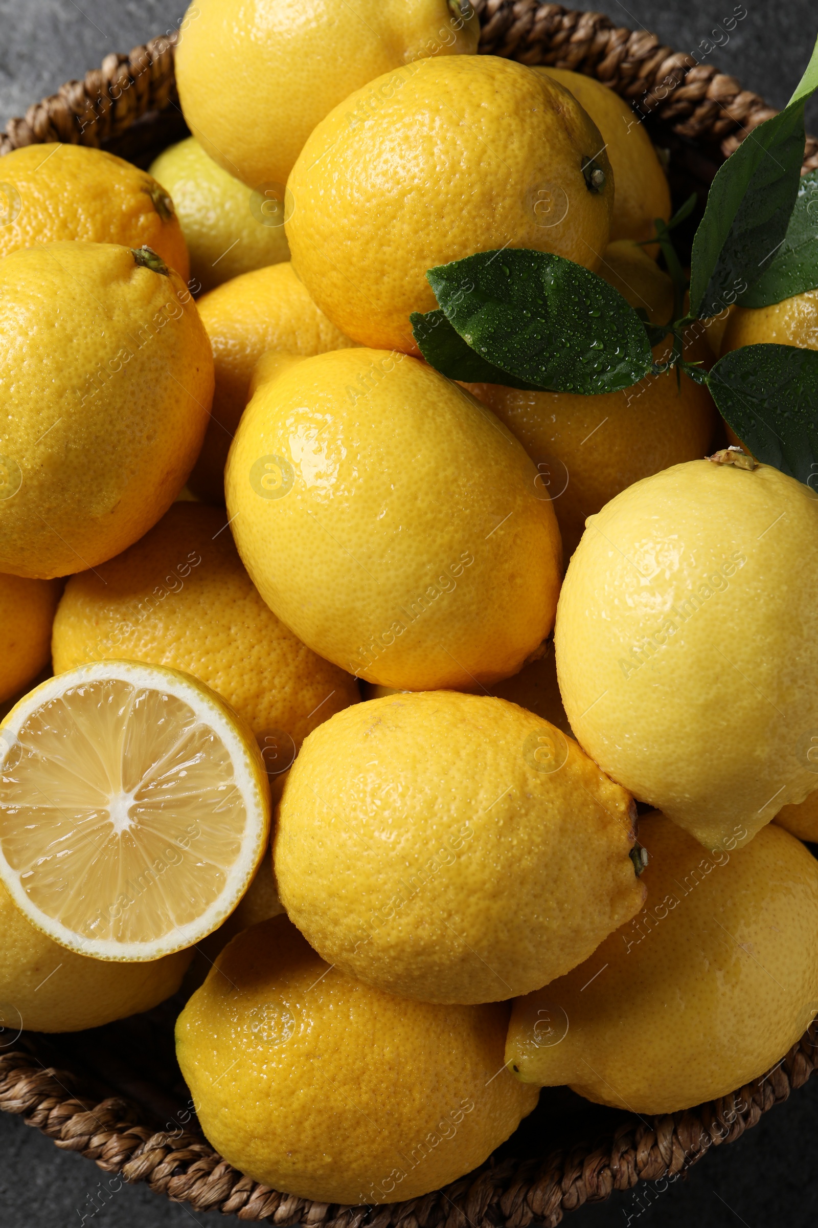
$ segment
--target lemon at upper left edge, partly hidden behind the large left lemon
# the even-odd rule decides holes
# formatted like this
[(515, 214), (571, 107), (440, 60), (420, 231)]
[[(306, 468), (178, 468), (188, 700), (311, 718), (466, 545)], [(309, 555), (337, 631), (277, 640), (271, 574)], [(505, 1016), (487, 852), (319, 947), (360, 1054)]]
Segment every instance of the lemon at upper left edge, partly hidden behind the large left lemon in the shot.
[(147, 171), (85, 145), (26, 145), (6, 154), (0, 193), (10, 222), (0, 255), (55, 241), (147, 246), (183, 281), (188, 248), (173, 200)]

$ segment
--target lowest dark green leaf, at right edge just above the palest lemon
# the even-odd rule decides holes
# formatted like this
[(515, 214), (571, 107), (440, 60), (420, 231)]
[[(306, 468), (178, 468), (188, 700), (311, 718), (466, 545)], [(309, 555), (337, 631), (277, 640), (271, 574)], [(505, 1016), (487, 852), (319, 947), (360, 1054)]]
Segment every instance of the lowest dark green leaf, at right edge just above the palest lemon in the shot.
[(753, 456), (807, 485), (818, 483), (818, 351), (744, 345), (719, 359), (708, 387)]

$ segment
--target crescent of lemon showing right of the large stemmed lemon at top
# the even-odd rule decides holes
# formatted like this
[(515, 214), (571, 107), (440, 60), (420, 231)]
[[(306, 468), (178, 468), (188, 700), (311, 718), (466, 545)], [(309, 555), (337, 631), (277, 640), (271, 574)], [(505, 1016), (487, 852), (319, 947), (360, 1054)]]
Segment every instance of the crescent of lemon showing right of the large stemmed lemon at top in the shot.
[[(568, 69), (538, 68), (574, 95), (602, 134), (616, 181), (612, 239), (640, 242), (656, 233), (654, 220), (668, 221), (671, 189), (650, 136), (633, 107), (595, 77)], [(659, 246), (655, 248), (659, 254)]]

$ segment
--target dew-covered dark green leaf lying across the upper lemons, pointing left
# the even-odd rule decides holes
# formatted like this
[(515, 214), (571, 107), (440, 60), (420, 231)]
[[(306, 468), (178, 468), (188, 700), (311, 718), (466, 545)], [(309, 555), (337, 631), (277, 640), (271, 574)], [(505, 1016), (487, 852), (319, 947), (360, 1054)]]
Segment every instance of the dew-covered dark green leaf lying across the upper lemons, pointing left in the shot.
[(560, 255), (480, 252), (429, 269), (427, 279), (466, 344), (526, 384), (618, 392), (650, 370), (648, 334), (633, 307), (602, 278)]

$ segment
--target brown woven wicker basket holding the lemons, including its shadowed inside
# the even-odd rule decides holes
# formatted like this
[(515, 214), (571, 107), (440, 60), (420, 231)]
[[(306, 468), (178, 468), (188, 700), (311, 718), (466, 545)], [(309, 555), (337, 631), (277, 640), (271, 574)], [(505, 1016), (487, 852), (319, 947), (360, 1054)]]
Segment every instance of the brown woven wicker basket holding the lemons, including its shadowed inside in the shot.
[[(735, 77), (662, 47), (654, 34), (614, 27), (598, 14), (537, 0), (475, 0), (480, 50), (525, 64), (596, 76), (645, 117), (670, 154), (675, 199), (701, 198), (724, 158), (774, 112)], [(103, 146), (147, 166), (186, 128), (173, 76), (173, 39), (108, 55), (83, 81), (29, 107), (0, 134), (0, 154), (66, 141)], [(809, 138), (805, 169), (818, 167)], [(1, 177), (1, 176), (0, 176)], [(0, 1032), (0, 1109), (17, 1113), (58, 1147), (82, 1152), (113, 1180), (147, 1181), (157, 1194), (240, 1219), (332, 1228), (524, 1228), (553, 1226), (565, 1211), (640, 1180), (682, 1173), (710, 1146), (738, 1138), (818, 1066), (812, 1025), (768, 1074), (710, 1104), (640, 1117), (546, 1089), (540, 1106), (481, 1168), (423, 1199), (342, 1207), (282, 1194), (243, 1176), (199, 1131), (173, 1052), (180, 996), (156, 1011), (92, 1032)], [(4, 1045), (5, 1040), (5, 1045)], [(123, 1056), (125, 1055), (125, 1056)], [(113, 1187), (113, 1186), (112, 1186)]]

